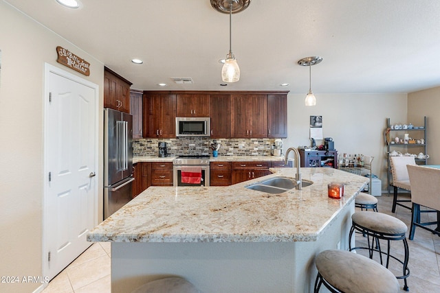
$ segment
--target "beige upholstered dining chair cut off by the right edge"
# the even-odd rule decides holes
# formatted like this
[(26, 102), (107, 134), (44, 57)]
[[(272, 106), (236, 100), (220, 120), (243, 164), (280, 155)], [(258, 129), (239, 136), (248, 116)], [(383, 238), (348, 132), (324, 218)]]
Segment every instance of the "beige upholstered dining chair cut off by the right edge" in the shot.
[[(415, 228), (420, 227), (434, 234), (440, 235), (440, 169), (408, 165), (408, 174), (411, 182), (411, 226), (409, 239), (414, 239)], [(420, 206), (428, 207), (437, 212), (437, 221), (422, 222)], [(427, 226), (437, 225), (436, 228)]]

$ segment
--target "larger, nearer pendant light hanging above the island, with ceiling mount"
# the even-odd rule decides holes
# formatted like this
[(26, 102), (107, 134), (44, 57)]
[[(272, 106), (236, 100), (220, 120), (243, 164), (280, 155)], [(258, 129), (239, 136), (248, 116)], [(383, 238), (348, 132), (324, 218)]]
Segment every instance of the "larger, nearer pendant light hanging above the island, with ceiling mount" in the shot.
[[(219, 12), (229, 12), (229, 53), (221, 68), (223, 82), (238, 82), (240, 80), (240, 67), (232, 54), (232, 12), (241, 12), (248, 8), (250, 0), (211, 0), (211, 5)], [(227, 7), (228, 5), (228, 7)]]

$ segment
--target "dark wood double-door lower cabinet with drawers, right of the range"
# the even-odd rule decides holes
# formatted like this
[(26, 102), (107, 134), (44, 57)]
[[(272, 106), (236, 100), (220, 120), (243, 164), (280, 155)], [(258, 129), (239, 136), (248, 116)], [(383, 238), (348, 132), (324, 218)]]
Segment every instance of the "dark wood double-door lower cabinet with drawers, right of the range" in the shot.
[(232, 162), (232, 184), (272, 174), (270, 161)]

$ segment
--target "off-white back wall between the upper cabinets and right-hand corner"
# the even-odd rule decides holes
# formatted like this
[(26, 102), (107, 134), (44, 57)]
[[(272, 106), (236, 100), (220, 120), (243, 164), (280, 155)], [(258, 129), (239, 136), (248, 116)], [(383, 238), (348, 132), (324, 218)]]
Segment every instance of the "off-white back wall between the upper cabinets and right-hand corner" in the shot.
[[(373, 174), (386, 189), (386, 119), (406, 122), (406, 94), (320, 94), (316, 106), (305, 106), (304, 95), (287, 96), (288, 137), (285, 150), (291, 146), (310, 145), (311, 115), (322, 115), (323, 137), (333, 137), (338, 155), (374, 156)], [(316, 145), (324, 141), (316, 141)], [(290, 155), (289, 155), (290, 156)]]

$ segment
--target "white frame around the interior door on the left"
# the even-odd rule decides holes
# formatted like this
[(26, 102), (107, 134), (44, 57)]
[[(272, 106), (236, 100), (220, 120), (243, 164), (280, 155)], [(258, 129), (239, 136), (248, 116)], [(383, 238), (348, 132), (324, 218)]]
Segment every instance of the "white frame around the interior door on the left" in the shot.
[(50, 106), (50, 101), (49, 101), (49, 86), (48, 86), (48, 79), (49, 79), (49, 75), (51, 73), (54, 73), (56, 75), (60, 75), (63, 78), (67, 78), (69, 80), (72, 80), (74, 82), (78, 82), (78, 84), (83, 84), (84, 86), (88, 86), (91, 89), (94, 89), (94, 93), (95, 93), (95, 108), (96, 110), (96, 117), (95, 117), (95, 133), (96, 133), (96, 138), (95, 138), (95, 173), (96, 173), (96, 180), (97, 183), (95, 184), (94, 187), (94, 194), (95, 194), (95, 198), (94, 198), (94, 204), (95, 204), (95, 211), (94, 211), (94, 225), (97, 226), (98, 225), (98, 204), (99, 204), (99, 188), (102, 188), (102, 184), (100, 183), (100, 180), (98, 180), (98, 178), (100, 178), (100, 167), (98, 165), (99, 163), (99, 156), (100, 156), (100, 152), (99, 152), (99, 112), (98, 112), (98, 107), (99, 107), (99, 86), (98, 84), (94, 84), (93, 82), (89, 82), (88, 80), (85, 80), (84, 78), (78, 76), (78, 75), (74, 75), (72, 73), (69, 73), (59, 67), (56, 67), (54, 65), (50, 65), (49, 63), (45, 62), (44, 64), (44, 93), (43, 93), (43, 106), (44, 106), (44, 110), (43, 110), (43, 180), (44, 180), (44, 184), (43, 184), (43, 207), (42, 207), (42, 219), (43, 219), (43, 225), (42, 225), (42, 231), (43, 231), (43, 237), (42, 237), (42, 248), (43, 248), (43, 253), (42, 253), (42, 262), (41, 262), (41, 266), (42, 266), (42, 272), (43, 272), (43, 276), (47, 275), (46, 274), (46, 266), (45, 266), (45, 261), (47, 260), (47, 247), (46, 247), (46, 238), (47, 238), (47, 214), (45, 213), (46, 211), (46, 205), (47, 205), (47, 196), (49, 193), (49, 188), (47, 185), (47, 182), (49, 180), (49, 166), (48, 166), (48, 158), (50, 156), (50, 154), (47, 152), (47, 145), (48, 143), (50, 143), (49, 137), (47, 135), (48, 133), (48, 111), (49, 111), (49, 106)]

